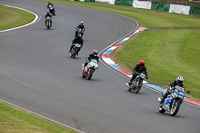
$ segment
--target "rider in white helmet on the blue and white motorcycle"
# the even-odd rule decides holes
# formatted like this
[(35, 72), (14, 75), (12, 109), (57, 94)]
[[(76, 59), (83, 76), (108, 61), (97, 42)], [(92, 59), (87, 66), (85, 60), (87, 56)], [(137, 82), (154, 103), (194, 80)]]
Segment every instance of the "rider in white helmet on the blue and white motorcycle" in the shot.
[(172, 93), (176, 85), (183, 87), (185, 89), (183, 81), (184, 79), (182, 76), (178, 76), (176, 80), (172, 81), (171, 84), (168, 86), (168, 88), (164, 90), (160, 103), (164, 102), (165, 98), (167, 98), (167, 96)]

